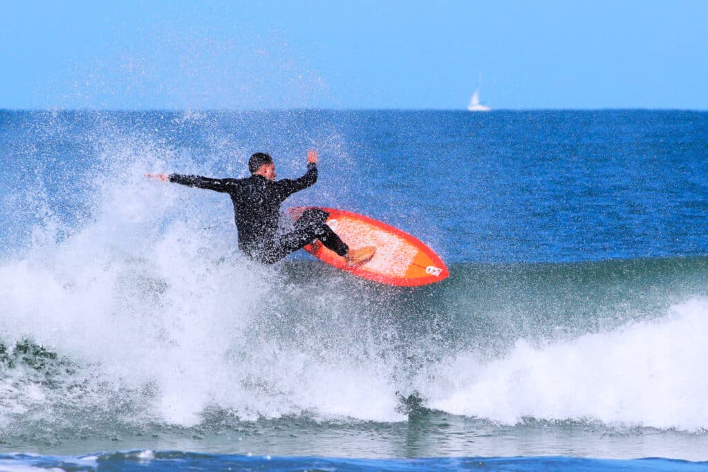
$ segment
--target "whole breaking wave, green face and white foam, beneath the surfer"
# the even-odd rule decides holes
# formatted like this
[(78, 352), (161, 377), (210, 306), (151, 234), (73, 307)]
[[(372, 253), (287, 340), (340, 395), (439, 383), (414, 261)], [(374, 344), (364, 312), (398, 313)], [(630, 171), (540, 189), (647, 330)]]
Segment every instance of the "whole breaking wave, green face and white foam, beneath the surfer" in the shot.
[[(462, 437), (560, 427), (704, 441), (707, 257), (453, 258), (449, 280), (420, 289), (303, 258), (255, 265), (236, 250), (230, 202), (143, 178), (239, 172), (221, 122), (178, 119), (185, 136), (164, 142), (146, 131), (154, 115), (132, 115), (133, 127), (42, 115), (29, 120), (37, 137), (10, 146), (37, 159), (0, 195), (12, 209), (0, 259), (4, 442), (217, 444), (224, 431), (320, 428), (343, 442), (351, 428), (396, 436), (421, 421), (430, 437), (447, 422)], [(183, 149), (191, 127), (211, 130), (210, 145)]]

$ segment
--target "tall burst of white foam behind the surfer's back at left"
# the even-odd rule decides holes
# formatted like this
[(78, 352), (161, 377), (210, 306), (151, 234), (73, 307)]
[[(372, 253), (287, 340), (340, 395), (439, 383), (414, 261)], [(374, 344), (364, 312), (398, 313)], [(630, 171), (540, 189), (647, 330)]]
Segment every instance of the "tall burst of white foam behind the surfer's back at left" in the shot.
[[(4, 343), (29, 338), (70, 359), (92, 405), (124, 396), (138, 413), (131, 421), (191, 426), (213, 406), (244, 419), (401, 419), (391, 370), (377, 359), (323, 352), (314, 340), (279, 343), (267, 330), (248, 335), (275, 316), (279, 275), (235, 250), (228, 199), (145, 179), (170, 149), (130, 139), (104, 146), (93, 220), (61, 238), (52, 214), (29, 251), (0, 264)], [(309, 303), (336, 306), (331, 297)], [(71, 396), (30, 379), (24, 393), (17, 385), (9, 376), (0, 384), (4, 425), (32, 410), (54, 415), (52, 402)]]

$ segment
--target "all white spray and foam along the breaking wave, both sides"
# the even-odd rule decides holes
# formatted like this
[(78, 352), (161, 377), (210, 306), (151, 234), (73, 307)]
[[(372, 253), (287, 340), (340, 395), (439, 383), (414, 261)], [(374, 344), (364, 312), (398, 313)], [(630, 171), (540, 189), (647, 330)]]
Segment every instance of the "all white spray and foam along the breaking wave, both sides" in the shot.
[[(5, 431), (190, 427), (215, 412), (394, 422), (406, 420), (397, 392), (413, 391), (428, 408), (511, 424), (708, 425), (708, 301), (572, 340), (518, 340), (489, 359), (446, 343), (455, 327), (435, 308), (413, 319), (401, 292), (250, 263), (230, 202), (143, 177), (209, 174), (227, 167), (219, 149), (193, 159), (110, 120), (92, 136), (96, 159), (66, 183), (89, 216), (67, 223), (33, 186), (31, 242), (0, 263)], [(211, 143), (237, 149), (227, 141)]]

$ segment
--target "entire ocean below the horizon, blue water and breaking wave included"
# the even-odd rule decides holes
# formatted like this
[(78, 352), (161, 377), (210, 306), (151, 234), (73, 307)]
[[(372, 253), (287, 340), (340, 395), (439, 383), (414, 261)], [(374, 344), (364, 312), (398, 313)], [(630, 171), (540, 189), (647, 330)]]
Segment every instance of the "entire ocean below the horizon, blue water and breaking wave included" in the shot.
[[(251, 263), (319, 180), (450, 278)], [(708, 113), (0, 110), (0, 470), (708, 470)]]

